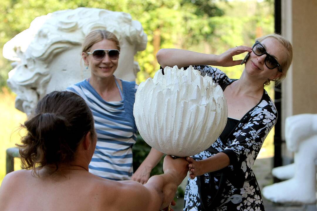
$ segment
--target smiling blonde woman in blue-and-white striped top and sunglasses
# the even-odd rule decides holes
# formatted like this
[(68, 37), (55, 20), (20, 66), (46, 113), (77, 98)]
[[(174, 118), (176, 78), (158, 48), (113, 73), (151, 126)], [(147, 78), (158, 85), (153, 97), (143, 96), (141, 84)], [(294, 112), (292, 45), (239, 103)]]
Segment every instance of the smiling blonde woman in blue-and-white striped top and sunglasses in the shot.
[(91, 77), (67, 90), (82, 96), (94, 115), (98, 139), (89, 172), (107, 179), (132, 179), (144, 184), (163, 153), (152, 148), (133, 174), (132, 146), (137, 132), (133, 104), (137, 85), (113, 75), (120, 55), (119, 40), (111, 32), (94, 30), (85, 37), (81, 55)]

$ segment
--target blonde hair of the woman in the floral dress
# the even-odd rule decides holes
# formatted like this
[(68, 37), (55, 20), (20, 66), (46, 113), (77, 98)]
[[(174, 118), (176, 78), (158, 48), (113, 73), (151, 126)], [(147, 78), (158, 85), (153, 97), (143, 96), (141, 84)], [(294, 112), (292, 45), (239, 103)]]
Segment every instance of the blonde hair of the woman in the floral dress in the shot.
[[(275, 34), (268, 34), (268, 35), (265, 35), (263, 37), (256, 38), (256, 40), (259, 42), (262, 42), (266, 38), (274, 38), (285, 48), (285, 53), (284, 53), (285, 58), (282, 61), (280, 61), (280, 65), (282, 67), (282, 74), (279, 78), (274, 80), (275, 84), (280, 84), (282, 82), (282, 80), (284, 80), (284, 78), (286, 77), (287, 71), (292, 63), (293, 47), (292, 47), (292, 44), (287, 39), (282, 37), (280, 34), (276, 34), (276, 33)], [(270, 84), (269, 79), (264, 82), (264, 85), (266, 85), (266, 86), (269, 84)]]

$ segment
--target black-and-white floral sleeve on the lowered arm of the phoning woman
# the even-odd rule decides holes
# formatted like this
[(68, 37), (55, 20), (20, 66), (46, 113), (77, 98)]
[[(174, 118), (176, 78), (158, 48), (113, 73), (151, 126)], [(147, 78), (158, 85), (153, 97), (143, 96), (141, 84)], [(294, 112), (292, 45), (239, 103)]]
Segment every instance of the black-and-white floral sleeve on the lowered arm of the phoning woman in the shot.
[(263, 100), (252, 112), (251, 116), (234, 133), (236, 138), (223, 152), (230, 158), (228, 180), (243, 185), (250, 175), (254, 161), (262, 144), (276, 123), (277, 112), (272, 101)]

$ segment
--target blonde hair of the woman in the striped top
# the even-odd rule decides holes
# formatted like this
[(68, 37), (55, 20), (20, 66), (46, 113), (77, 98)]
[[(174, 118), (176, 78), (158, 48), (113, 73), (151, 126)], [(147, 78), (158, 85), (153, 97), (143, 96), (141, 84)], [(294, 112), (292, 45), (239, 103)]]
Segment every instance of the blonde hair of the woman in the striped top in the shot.
[(120, 51), (120, 43), (116, 35), (107, 30), (96, 29), (91, 31), (85, 37), (85, 40), (81, 45), (81, 52), (87, 53), (92, 45), (102, 40), (112, 40)]

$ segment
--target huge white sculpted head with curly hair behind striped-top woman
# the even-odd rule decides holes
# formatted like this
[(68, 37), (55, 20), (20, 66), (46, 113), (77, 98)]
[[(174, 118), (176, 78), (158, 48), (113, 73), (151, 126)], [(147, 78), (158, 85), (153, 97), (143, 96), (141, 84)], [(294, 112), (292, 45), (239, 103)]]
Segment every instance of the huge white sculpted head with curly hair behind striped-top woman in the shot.
[(36, 17), (28, 29), (8, 41), (3, 56), (16, 61), (8, 85), (16, 92), (16, 108), (29, 113), (39, 98), (90, 76), (81, 62), (81, 43), (94, 29), (115, 34), (121, 46), (118, 78), (133, 81), (139, 71), (137, 51), (146, 48), (147, 35), (138, 21), (123, 12), (77, 8)]

